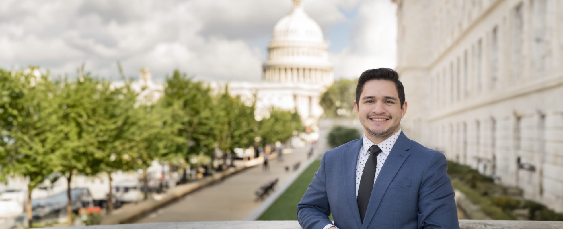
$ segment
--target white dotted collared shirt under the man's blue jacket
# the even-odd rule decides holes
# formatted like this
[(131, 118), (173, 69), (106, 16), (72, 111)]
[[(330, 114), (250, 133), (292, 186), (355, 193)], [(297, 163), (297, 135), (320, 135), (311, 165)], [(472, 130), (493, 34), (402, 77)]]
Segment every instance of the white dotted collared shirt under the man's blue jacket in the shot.
[(368, 149), (372, 147), (372, 145), (377, 145), (381, 148), (381, 153), (377, 154), (377, 164), (376, 164), (376, 176), (373, 179), (375, 183), (377, 180), (377, 175), (379, 175), (379, 171), (381, 171), (381, 167), (383, 167), (383, 163), (387, 159), (387, 155), (391, 152), (393, 145), (395, 145), (395, 141), (399, 138), (399, 134), (401, 134), (401, 130), (397, 131), (394, 135), (391, 135), (389, 138), (385, 139), (379, 144), (374, 144), (368, 138), (363, 138), (363, 144), (360, 147), (360, 154), (358, 155), (358, 166), (356, 167), (356, 198), (358, 198), (358, 189), (360, 188), (360, 180), (361, 174), (364, 172), (365, 162), (368, 161), (369, 152)]

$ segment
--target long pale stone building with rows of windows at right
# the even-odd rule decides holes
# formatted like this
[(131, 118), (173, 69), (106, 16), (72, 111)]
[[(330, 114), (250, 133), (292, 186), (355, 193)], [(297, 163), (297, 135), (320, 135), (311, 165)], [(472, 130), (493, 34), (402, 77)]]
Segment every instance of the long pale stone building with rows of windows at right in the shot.
[(406, 134), (563, 212), (563, 1), (394, 2)]

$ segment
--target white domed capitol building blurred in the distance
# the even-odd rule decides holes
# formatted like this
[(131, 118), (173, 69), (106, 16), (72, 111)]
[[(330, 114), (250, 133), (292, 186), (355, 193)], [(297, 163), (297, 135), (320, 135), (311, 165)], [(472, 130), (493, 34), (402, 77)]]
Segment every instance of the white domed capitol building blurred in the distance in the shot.
[[(229, 93), (248, 102), (256, 94), (256, 118), (269, 116), (271, 107), (297, 111), (307, 126), (314, 129), (323, 109), (319, 98), (334, 75), (328, 61), (328, 44), (319, 24), (303, 10), (301, 0), (293, 0), (293, 8), (276, 23), (268, 45), (268, 59), (262, 65), (261, 82), (209, 82), (215, 91), (229, 85)], [(159, 98), (163, 86), (154, 84), (150, 70), (142, 68), (136, 88), (148, 87), (145, 96)], [(145, 97), (148, 98), (148, 97)]]

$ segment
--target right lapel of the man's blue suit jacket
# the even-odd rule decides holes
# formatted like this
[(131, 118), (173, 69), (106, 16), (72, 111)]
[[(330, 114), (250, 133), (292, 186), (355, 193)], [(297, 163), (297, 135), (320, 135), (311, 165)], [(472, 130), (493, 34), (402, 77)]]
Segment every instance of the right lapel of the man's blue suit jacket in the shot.
[[(406, 138), (405, 134), (401, 131), (399, 138), (395, 141), (395, 145), (391, 149), (385, 163), (383, 163), (383, 167), (381, 168), (381, 172), (377, 176), (376, 183), (373, 186), (372, 195), (369, 198), (368, 209), (365, 212), (364, 223), (362, 228), (368, 228), (369, 223), (371, 223), (373, 216), (377, 212), (377, 208), (379, 207), (379, 203), (383, 199), (383, 195), (387, 191), (389, 184), (403, 163), (405, 162), (406, 158), (409, 157), (409, 152), (406, 150), (410, 149), (410, 139)], [(358, 209), (358, 204), (356, 203), (356, 209)]]

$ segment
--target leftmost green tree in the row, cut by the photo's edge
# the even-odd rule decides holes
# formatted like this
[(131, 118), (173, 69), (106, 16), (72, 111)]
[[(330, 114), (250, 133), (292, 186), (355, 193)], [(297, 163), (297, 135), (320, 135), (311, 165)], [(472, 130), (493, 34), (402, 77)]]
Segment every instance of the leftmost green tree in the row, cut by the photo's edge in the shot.
[(52, 106), (54, 99), (48, 76), (0, 70), (0, 180), (6, 181), (6, 176), (29, 179), (29, 226), (32, 191), (53, 172), (53, 153), (64, 137), (52, 131), (59, 113), (59, 108)]

